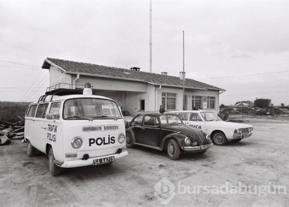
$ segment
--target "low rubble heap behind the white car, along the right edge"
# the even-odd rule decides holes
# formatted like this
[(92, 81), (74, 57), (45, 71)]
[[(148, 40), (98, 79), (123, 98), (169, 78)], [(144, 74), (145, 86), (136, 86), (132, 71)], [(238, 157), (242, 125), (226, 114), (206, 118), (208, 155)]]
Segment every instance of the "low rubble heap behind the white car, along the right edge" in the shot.
[(259, 107), (225, 107), (220, 109), (220, 116), (224, 115), (289, 115), (287, 108), (259, 108)]

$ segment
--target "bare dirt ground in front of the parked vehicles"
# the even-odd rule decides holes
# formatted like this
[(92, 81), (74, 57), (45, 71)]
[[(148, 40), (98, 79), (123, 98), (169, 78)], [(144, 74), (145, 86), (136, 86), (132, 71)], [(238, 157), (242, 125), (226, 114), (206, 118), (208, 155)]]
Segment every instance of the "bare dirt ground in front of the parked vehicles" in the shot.
[(46, 156), (28, 158), (26, 144), (13, 141), (0, 146), (0, 206), (164, 206), (154, 196), (163, 177), (176, 186), (168, 206), (288, 206), (283, 188), (265, 197), (178, 193), (178, 182), (191, 191), (193, 185), (226, 182), (289, 189), (289, 122), (246, 120), (254, 126), (252, 138), (213, 146), (204, 155), (185, 154), (172, 161), (164, 152), (136, 147), (112, 165), (65, 169), (59, 177), (48, 174)]

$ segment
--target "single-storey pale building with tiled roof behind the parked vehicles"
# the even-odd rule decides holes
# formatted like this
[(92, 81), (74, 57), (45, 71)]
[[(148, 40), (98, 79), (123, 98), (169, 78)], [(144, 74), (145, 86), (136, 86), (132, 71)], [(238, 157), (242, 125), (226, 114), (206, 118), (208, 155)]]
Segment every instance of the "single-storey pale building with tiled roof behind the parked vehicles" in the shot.
[[(183, 79), (167, 72), (156, 74), (136, 67), (120, 69), (54, 58), (47, 58), (42, 68), (49, 69), (50, 86), (90, 82), (94, 94), (114, 99), (133, 116), (142, 111), (158, 111), (161, 104), (166, 110), (183, 110)], [(186, 78), (184, 108), (209, 109), (218, 113), (219, 94), (224, 91)]]

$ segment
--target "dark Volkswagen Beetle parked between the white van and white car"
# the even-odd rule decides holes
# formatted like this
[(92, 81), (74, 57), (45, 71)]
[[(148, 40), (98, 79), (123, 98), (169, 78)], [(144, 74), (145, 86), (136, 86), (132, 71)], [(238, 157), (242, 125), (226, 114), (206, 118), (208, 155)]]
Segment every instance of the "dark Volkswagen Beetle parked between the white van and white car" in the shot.
[(144, 112), (126, 129), (126, 146), (134, 145), (166, 150), (170, 159), (178, 160), (182, 152), (205, 153), (213, 143), (209, 135), (184, 125), (178, 115)]

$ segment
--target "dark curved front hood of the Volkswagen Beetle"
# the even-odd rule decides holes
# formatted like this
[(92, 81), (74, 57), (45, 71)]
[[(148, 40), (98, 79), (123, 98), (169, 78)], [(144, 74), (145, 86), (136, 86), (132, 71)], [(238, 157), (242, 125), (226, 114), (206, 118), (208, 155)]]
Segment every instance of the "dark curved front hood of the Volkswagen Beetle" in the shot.
[(165, 125), (163, 126), (163, 128), (168, 129), (168, 130), (173, 130), (175, 132), (180, 132), (184, 134), (185, 136), (192, 138), (192, 140), (196, 141), (199, 145), (209, 143), (209, 141), (206, 139), (204, 134), (200, 130), (194, 127), (179, 124), (179, 125)]

